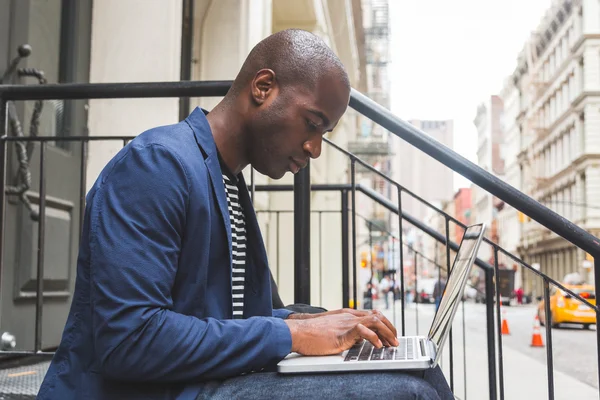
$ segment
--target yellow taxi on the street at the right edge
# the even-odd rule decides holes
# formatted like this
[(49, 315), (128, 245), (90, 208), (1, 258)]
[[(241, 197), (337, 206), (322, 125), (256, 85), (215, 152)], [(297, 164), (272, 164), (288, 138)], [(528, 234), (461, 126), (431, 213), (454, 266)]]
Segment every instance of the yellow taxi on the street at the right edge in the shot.
[[(586, 299), (590, 304), (596, 305), (596, 291), (592, 285), (564, 285), (573, 293)], [(544, 300), (538, 305), (538, 318), (540, 324), (546, 323)], [(553, 287), (550, 290), (550, 324), (558, 327), (562, 323), (583, 324), (585, 329), (596, 323), (596, 312), (587, 304), (574, 298), (571, 294)]]

